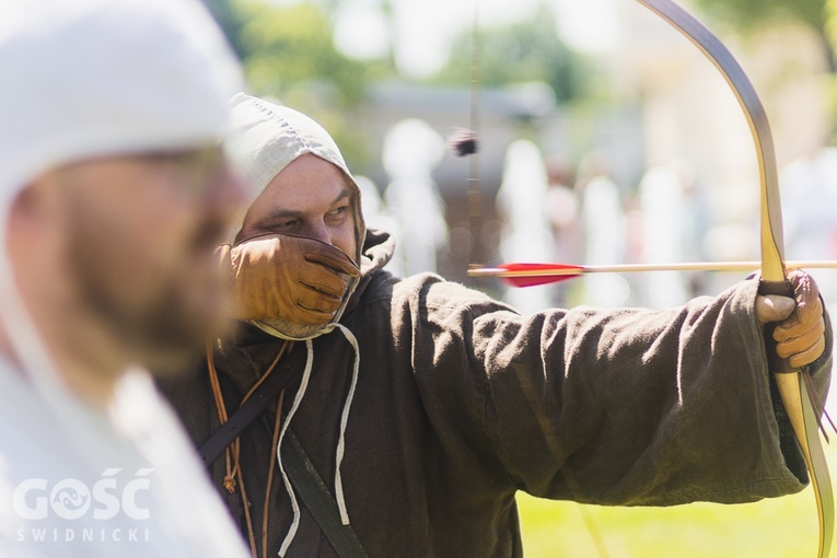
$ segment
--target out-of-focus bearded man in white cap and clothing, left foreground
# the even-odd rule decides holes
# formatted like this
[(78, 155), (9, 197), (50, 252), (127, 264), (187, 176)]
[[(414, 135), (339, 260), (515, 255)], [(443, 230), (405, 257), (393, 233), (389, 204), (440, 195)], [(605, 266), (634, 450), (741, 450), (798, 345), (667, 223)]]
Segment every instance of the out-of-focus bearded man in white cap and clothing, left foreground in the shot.
[(143, 367), (221, 323), (240, 67), (193, 0), (0, 4), (0, 555), (246, 555)]

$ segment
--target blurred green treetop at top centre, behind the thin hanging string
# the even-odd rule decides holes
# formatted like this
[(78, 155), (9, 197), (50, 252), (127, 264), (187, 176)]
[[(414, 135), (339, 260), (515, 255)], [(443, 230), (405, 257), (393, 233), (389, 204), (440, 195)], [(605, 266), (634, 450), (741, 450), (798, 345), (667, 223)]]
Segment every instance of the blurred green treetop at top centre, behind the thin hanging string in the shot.
[[(473, 39), (473, 30), (466, 30), (454, 40), (450, 60), (431, 78), (432, 82), (467, 83)], [(589, 66), (558, 37), (555, 13), (544, 3), (528, 21), (479, 28), (477, 40), (484, 86), (544, 81), (558, 101), (584, 93), (584, 71)]]

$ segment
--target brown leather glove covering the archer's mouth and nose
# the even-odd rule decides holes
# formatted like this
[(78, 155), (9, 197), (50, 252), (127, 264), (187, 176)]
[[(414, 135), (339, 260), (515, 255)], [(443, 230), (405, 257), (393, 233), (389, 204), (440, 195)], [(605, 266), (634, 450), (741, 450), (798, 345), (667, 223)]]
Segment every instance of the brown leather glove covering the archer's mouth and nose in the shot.
[(232, 270), (232, 317), (284, 318), (322, 325), (334, 318), (360, 269), (339, 248), (316, 239), (271, 234), (220, 248)]

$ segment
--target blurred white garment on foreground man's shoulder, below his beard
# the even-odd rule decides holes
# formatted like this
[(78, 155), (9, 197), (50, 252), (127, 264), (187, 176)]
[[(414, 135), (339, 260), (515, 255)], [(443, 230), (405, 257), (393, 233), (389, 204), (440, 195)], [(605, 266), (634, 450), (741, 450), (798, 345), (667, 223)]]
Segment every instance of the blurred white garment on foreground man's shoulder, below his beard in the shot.
[(148, 373), (107, 410), (45, 396), (5, 361), (0, 385), (0, 556), (248, 556)]

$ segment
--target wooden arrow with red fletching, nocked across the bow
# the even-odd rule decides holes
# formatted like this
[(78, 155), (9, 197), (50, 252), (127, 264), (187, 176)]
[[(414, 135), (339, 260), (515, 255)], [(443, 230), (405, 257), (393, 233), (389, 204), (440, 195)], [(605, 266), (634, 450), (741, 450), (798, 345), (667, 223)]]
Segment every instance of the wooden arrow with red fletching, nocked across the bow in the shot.
[[(500, 264), (468, 269), (469, 277), (499, 277), (512, 287), (534, 287), (573, 279), (586, 274), (635, 274), (641, 271), (742, 271), (758, 269), (760, 261), (691, 261), (676, 264), (624, 264), (579, 266), (573, 264)], [(786, 261), (789, 268), (834, 269), (837, 260)]]

